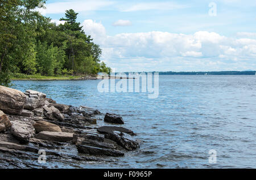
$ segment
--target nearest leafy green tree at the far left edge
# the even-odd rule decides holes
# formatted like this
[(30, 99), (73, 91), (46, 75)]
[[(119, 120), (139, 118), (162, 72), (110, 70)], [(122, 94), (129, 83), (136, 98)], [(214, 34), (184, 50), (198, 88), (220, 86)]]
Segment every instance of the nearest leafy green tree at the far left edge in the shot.
[(0, 1), (0, 84), (7, 85), (11, 72), (27, 55), (35, 36), (34, 10), (42, 0)]

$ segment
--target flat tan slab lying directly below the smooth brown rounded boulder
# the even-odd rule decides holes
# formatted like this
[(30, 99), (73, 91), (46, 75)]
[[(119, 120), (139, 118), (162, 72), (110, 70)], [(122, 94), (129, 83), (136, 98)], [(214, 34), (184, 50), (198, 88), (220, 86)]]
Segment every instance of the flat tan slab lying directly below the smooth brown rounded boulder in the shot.
[(42, 131), (35, 136), (38, 139), (51, 140), (55, 142), (70, 142), (73, 140), (73, 134), (69, 132), (49, 132)]

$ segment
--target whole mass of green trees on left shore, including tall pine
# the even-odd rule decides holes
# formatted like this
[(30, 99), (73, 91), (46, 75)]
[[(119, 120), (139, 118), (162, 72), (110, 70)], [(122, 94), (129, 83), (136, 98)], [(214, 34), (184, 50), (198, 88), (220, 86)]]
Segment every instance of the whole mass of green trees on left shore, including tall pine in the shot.
[[(110, 72), (100, 61), (100, 46), (86, 35), (77, 14), (67, 10), (51, 23), (36, 8), (42, 0), (0, 1), (0, 85), (20, 75), (70, 76)], [(86, 28), (86, 27), (84, 27)]]

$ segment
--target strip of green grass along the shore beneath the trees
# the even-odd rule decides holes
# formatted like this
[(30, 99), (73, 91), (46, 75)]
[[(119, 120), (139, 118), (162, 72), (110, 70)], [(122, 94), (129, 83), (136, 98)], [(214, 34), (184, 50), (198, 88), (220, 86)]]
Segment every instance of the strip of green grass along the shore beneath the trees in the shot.
[(82, 76), (42, 76), (40, 74), (35, 75), (26, 75), (26, 74), (20, 74), (16, 73), (13, 76), (11, 76), (11, 80), (75, 80), (80, 79)]

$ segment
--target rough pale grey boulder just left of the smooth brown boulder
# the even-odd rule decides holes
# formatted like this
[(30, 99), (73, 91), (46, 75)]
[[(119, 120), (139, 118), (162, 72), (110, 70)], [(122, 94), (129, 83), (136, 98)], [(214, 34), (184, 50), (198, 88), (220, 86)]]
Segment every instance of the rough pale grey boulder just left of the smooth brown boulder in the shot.
[(11, 134), (20, 142), (29, 142), (30, 138), (35, 135), (35, 128), (28, 119), (23, 121), (11, 121)]

